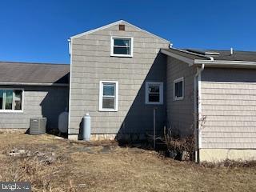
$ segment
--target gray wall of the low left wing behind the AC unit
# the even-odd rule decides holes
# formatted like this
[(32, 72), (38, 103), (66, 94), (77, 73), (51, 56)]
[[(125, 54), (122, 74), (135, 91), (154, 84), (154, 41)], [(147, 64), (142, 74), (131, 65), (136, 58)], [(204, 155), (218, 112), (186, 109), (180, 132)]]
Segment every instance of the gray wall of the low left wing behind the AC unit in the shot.
[(0, 112), (0, 128), (28, 129), (30, 118), (47, 118), (47, 127), (58, 129), (58, 115), (68, 107), (68, 87), (62, 86), (0, 86), (24, 89), (23, 112)]

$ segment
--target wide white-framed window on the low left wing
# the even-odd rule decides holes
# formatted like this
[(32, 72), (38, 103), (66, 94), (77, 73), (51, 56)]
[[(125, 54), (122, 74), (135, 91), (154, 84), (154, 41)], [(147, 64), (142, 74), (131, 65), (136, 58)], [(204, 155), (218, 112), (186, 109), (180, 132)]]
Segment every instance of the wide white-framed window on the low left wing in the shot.
[(0, 111), (22, 111), (23, 90), (0, 90)]

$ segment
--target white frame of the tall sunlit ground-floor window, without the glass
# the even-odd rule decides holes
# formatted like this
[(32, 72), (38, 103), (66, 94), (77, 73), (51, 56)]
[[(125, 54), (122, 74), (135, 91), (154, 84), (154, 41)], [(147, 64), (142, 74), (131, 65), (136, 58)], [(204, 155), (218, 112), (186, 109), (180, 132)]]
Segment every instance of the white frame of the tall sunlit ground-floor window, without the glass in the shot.
[[(114, 109), (106, 109), (102, 107), (103, 101), (103, 84), (104, 83), (114, 83), (115, 84), (115, 100), (114, 100)], [(100, 81), (99, 82), (99, 111), (118, 111), (118, 81)]]

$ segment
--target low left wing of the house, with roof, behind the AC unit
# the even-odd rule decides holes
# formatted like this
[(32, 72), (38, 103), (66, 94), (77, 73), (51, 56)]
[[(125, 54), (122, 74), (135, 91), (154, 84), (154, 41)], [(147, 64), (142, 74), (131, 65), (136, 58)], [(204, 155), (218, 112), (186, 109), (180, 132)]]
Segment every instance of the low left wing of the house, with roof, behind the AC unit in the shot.
[(30, 118), (46, 117), (58, 129), (68, 109), (70, 65), (0, 62), (0, 128), (28, 129)]

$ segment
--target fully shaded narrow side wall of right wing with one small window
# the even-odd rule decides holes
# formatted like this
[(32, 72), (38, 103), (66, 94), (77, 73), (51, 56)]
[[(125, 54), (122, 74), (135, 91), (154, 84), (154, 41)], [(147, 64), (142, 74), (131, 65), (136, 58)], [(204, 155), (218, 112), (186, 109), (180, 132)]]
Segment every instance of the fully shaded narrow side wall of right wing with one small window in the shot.
[[(180, 137), (194, 134), (194, 75), (196, 68), (176, 58), (167, 58), (166, 66), (167, 118), (174, 134)], [(174, 80), (184, 78), (184, 98), (174, 101)]]

